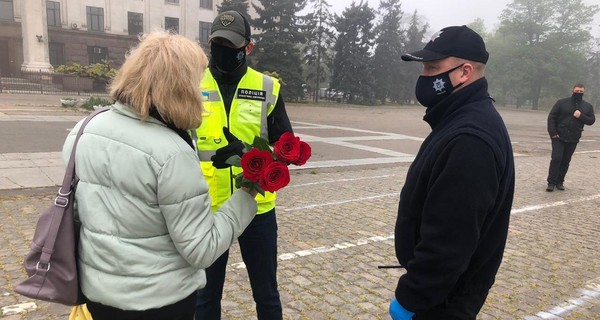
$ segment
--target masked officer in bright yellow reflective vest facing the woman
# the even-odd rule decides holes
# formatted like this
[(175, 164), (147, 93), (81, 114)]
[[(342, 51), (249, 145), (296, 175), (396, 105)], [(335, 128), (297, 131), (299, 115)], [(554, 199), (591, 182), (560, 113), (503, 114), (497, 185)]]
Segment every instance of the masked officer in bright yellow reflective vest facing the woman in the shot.
[[(248, 67), (246, 56), (254, 47), (250, 24), (237, 11), (220, 13), (210, 35), (209, 69), (201, 82), (206, 113), (196, 131), (204, 176), (210, 185), (213, 210), (231, 197), (233, 176), (241, 172), (226, 160), (241, 155), (243, 144), (261, 136), (275, 143), (292, 131), (277, 79)], [(277, 288), (277, 220), (275, 193), (257, 195), (258, 214), (239, 237), (248, 270), (258, 319), (282, 319)], [(196, 319), (221, 318), (221, 298), (229, 252), (206, 270), (207, 285), (199, 290)]]

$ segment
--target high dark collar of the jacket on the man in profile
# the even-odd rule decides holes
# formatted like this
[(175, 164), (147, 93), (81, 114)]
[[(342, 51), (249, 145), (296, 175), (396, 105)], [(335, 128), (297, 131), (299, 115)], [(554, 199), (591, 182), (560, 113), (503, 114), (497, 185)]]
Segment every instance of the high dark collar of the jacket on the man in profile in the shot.
[(461, 90), (448, 96), (440, 103), (431, 108), (427, 108), (423, 120), (435, 128), (449, 114), (460, 109), (462, 106), (475, 101), (492, 99), (488, 93), (488, 83), (485, 78), (481, 78), (470, 85), (463, 87)]

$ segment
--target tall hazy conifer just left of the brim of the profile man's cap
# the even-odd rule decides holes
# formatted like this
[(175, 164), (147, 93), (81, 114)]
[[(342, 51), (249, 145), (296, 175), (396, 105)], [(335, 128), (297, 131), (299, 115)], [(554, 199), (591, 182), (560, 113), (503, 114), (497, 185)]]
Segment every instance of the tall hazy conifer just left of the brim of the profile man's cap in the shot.
[(385, 104), (389, 98), (398, 102), (401, 100), (403, 90), (398, 88), (405, 83), (405, 74), (402, 73), (401, 63), (398, 59), (404, 54), (404, 32), (400, 21), (404, 12), (400, 8), (400, 0), (382, 0), (379, 4), (381, 19), (375, 27), (375, 54), (373, 55), (373, 68), (375, 72), (375, 98)]

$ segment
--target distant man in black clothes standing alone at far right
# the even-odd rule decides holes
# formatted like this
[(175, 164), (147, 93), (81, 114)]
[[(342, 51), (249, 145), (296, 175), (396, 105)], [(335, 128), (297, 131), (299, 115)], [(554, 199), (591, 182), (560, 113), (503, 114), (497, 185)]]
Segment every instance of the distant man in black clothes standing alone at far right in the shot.
[(565, 190), (563, 182), (569, 170), (571, 157), (583, 132), (583, 125), (591, 126), (596, 121), (594, 107), (583, 100), (585, 86), (573, 86), (569, 98), (558, 100), (548, 114), (548, 134), (552, 139), (552, 156), (548, 169), (546, 191)]

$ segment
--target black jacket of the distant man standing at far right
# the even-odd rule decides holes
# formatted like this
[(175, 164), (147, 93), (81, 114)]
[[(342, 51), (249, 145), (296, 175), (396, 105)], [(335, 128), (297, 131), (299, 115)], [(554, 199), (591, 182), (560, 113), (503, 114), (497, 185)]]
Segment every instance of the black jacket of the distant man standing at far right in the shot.
[[(575, 118), (575, 110), (581, 111), (581, 116)], [(563, 142), (577, 143), (583, 132), (583, 125), (591, 126), (596, 121), (594, 107), (587, 101), (574, 103), (571, 98), (556, 101), (548, 114), (548, 134), (558, 137)]]

